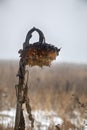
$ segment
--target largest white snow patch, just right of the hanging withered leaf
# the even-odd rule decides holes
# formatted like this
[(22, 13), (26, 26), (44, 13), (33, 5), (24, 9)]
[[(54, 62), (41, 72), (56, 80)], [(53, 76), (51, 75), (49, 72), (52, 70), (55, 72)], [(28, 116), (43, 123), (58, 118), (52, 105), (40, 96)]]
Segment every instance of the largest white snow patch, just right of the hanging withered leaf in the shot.
[[(34, 115), (35, 122), (41, 124), (43, 130), (45, 130), (49, 126), (63, 123), (63, 120), (60, 117), (58, 117), (57, 113), (53, 111), (48, 112), (39, 110), (34, 111), (32, 114)], [(35, 123), (35, 128), (36, 127), (37, 126)]]

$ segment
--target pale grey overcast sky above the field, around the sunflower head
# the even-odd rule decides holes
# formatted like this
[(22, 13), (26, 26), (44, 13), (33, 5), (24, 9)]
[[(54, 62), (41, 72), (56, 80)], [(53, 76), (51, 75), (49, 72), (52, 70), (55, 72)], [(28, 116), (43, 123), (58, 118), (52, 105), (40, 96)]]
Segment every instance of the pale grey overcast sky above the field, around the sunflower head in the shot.
[(18, 59), (33, 26), (62, 47), (57, 61), (87, 63), (87, 0), (0, 0), (0, 59)]

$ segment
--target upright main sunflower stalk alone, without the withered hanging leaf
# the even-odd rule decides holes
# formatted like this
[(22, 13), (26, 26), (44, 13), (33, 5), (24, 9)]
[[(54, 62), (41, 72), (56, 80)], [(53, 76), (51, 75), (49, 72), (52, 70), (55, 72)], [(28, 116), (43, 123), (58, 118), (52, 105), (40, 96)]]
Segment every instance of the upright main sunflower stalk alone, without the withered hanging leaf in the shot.
[(23, 84), (24, 84), (24, 76), (25, 76), (25, 66), (23, 65), (22, 61), (20, 60), (19, 64), (19, 84), (16, 85), (16, 92), (17, 92), (17, 108), (16, 108), (16, 118), (15, 118), (15, 128), (14, 130), (20, 130), (20, 118), (21, 118), (21, 110), (23, 104)]

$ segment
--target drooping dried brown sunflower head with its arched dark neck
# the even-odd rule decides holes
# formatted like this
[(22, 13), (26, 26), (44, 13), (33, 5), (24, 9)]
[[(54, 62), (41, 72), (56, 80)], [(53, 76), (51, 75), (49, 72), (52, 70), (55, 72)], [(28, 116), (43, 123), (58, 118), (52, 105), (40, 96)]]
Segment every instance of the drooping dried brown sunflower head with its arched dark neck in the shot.
[[(37, 31), (39, 33), (39, 42), (29, 44), (31, 33)], [(32, 28), (26, 37), (26, 41), (23, 45), (23, 50), (19, 51), (21, 59), (25, 62), (25, 65), (29, 66), (50, 66), (51, 62), (59, 55), (60, 49), (57, 47), (45, 43), (43, 33), (36, 28)]]

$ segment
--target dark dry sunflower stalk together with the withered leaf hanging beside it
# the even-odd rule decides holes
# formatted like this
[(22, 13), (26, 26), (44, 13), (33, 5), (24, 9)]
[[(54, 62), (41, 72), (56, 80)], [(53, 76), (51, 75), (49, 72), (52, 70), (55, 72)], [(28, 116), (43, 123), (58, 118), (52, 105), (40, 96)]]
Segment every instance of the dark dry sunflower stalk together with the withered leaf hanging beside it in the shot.
[(25, 120), (23, 115), (22, 105), (25, 103), (29, 120), (31, 121), (31, 127), (33, 127), (34, 119), (31, 114), (31, 107), (29, 104), (28, 98), (28, 76), (26, 84), (24, 85), (25, 81), (25, 62), (21, 59), (19, 64), (19, 84), (16, 85), (16, 92), (17, 92), (17, 108), (16, 108), (16, 118), (15, 118), (15, 129), (14, 130), (25, 130)]

